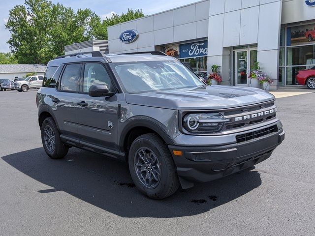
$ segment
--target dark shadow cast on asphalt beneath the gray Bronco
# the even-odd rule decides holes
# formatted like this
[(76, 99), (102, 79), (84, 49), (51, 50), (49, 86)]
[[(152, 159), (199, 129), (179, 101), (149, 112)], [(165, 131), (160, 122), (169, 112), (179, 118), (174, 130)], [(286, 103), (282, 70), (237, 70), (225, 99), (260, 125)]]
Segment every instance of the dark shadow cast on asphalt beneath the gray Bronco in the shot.
[(77, 148), (70, 148), (61, 160), (50, 159), (43, 148), (2, 159), (25, 175), (51, 186), (38, 189), (40, 194), (64, 191), (121, 217), (196, 215), (237, 201), (261, 184), (258, 172), (245, 170), (213, 182), (195, 184), (189, 190), (178, 190), (173, 196), (156, 201), (134, 187), (126, 164)]

